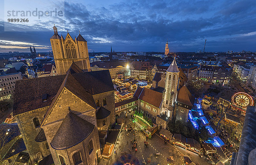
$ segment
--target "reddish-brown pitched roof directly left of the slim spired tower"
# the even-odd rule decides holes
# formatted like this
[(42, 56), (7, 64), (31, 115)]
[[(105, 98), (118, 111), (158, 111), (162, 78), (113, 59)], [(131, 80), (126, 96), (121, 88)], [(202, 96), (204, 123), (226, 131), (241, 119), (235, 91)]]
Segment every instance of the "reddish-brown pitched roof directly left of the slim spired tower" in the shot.
[(150, 103), (153, 106), (160, 108), (162, 100), (163, 100), (163, 93), (154, 91), (152, 89), (143, 88), (140, 96), (140, 100), (143, 100), (147, 103)]

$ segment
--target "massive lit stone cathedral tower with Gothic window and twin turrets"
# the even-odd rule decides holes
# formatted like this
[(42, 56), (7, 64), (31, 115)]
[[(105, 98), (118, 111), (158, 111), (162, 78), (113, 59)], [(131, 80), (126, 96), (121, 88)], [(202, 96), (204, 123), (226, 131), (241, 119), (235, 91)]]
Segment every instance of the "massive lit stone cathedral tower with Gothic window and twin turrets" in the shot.
[(81, 70), (85, 72), (90, 71), (87, 41), (81, 34), (79, 33), (77, 38), (75, 37), (75, 40), (73, 40), (68, 32), (65, 39), (62, 35), (59, 36), (55, 26), (53, 26), (53, 31), (54, 34), (50, 41), (58, 75), (66, 74), (73, 62)]

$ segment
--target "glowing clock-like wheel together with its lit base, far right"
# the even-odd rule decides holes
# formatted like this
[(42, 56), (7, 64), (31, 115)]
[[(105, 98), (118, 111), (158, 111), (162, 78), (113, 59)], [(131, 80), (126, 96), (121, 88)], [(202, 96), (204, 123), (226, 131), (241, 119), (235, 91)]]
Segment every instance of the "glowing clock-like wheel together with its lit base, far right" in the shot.
[(232, 109), (240, 110), (241, 115), (245, 116), (247, 106), (253, 106), (253, 98), (245, 92), (237, 92), (231, 98)]

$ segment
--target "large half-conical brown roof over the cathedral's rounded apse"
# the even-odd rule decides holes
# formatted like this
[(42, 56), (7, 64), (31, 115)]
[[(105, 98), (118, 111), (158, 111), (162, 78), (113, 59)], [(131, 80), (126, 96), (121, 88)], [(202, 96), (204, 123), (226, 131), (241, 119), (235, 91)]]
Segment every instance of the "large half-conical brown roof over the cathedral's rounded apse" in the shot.
[(89, 136), (93, 129), (92, 123), (69, 111), (50, 144), (57, 150), (73, 147)]

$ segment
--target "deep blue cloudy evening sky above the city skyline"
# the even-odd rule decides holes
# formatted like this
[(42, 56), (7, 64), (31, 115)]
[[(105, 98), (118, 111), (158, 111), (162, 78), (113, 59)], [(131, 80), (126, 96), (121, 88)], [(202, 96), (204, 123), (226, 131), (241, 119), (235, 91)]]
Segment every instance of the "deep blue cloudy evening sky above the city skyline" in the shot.
[[(10, 0), (8, 0), (10, 2)], [(51, 50), (52, 27), (64, 37), (79, 34), (89, 51), (256, 51), (255, 0), (66, 0), (50, 2), (64, 17), (31, 18), (28, 24), (8, 23), (10, 6), (0, 0), (0, 52)], [(30, 1), (31, 3), (32, 1)], [(40, 1), (39, 1), (40, 2)], [(27, 10), (27, 3), (12, 3)], [(40, 3), (31, 8), (46, 11)], [(63, 8), (61, 7), (63, 6)], [(31, 9), (32, 10), (32, 9)], [(26, 18), (26, 17), (25, 17)]]

